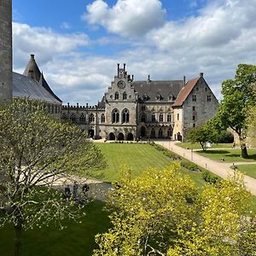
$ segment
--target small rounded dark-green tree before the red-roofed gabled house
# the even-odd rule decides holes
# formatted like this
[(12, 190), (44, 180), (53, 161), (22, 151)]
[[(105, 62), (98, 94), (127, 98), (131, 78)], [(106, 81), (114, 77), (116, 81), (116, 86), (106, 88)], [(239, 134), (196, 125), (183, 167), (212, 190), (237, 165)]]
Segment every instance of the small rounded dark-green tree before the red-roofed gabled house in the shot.
[(207, 149), (207, 142), (218, 142), (218, 131), (212, 127), (210, 121), (205, 125), (195, 127), (190, 130), (187, 139), (193, 143), (200, 143), (203, 151)]

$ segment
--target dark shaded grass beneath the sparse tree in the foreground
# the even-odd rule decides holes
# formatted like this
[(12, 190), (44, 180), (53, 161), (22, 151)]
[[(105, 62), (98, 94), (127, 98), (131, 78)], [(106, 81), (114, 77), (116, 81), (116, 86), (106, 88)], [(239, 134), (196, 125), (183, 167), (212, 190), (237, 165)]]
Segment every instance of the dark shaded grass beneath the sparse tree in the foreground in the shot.
[[(37, 256), (90, 256), (96, 248), (95, 235), (110, 228), (108, 212), (102, 211), (101, 201), (91, 202), (86, 207), (82, 223), (67, 220), (67, 229), (53, 227), (28, 230), (23, 233), (22, 255)], [(11, 256), (13, 252), (12, 226), (0, 229), (0, 255)]]

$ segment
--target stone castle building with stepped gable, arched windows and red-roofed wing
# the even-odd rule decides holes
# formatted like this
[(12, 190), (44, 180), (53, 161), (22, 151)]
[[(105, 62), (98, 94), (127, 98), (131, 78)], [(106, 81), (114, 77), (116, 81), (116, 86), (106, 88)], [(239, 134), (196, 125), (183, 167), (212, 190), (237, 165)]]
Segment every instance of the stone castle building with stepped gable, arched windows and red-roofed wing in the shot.
[(108, 140), (171, 138), (183, 141), (189, 129), (204, 124), (218, 110), (218, 100), (203, 73), (196, 79), (135, 81), (118, 64), (117, 75), (95, 106), (62, 106), (62, 119)]

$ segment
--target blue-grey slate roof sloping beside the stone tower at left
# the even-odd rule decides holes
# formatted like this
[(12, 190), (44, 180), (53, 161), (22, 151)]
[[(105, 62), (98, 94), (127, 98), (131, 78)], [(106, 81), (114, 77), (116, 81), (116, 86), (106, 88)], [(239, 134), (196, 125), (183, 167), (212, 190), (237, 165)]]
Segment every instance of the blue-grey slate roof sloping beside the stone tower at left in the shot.
[(52, 96), (48, 90), (39, 84), (35, 79), (21, 75), (20, 73), (13, 73), (14, 83), (14, 97), (27, 98), (32, 100), (41, 100), (53, 104), (61, 104), (55, 96)]

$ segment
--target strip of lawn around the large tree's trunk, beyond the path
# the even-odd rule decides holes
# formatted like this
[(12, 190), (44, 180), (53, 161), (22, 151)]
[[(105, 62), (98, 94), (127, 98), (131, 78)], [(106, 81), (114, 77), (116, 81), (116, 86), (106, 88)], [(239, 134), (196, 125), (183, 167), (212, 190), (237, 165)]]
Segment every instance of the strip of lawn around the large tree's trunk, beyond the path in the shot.
[(247, 149), (249, 154), (248, 159), (241, 158), (241, 149), (219, 149), (219, 150), (211, 150), (207, 149), (207, 151), (203, 152), (197, 151), (196, 153), (201, 154), (212, 160), (221, 161), (224, 158), (225, 162), (248, 162), (248, 161), (256, 161), (256, 149)]

